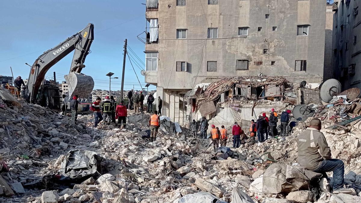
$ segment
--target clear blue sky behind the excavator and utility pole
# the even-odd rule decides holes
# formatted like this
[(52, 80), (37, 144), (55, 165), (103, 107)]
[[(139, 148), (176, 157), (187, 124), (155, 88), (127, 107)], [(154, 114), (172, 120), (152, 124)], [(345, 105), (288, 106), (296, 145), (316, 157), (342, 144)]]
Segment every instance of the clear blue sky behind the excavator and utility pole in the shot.
[[(95, 87), (109, 88), (109, 77), (113, 72), (112, 90), (120, 90), (123, 45), (127, 38), (129, 47), (141, 61), (140, 68), (145, 69), (144, 44), (137, 35), (145, 30), (145, 0), (11, 0), (1, 1), (0, 18), (0, 75), (28, 78), (30, 67), (44, 51), (82, 30), (89, 22), (94, 24), (94, 41), (91, 53), (87, 56), (86, 68), (82, 73), (95, 80)], [(144, 34), (143, 34), (144, 35)], [(141, 35), (141, 36), (143, 36)], [(144, 38), (144, 36), (143, 36)], [(129, 51), (129, 53), (131, 53)], [(64, 80), (68, 74), (73, 53), (55, 64), (45, 75), (52, 79), (57, 73), (57, 81)], [(134, 69), (144, 88), (144, 77), (134, 63)], [(113, 83), (114, 81), (114, 83)], [(126, 61), (125, 86), (130, 89), (140, 85), (135, 73)], [(149, 86), (154, 90), (155, 86)]]

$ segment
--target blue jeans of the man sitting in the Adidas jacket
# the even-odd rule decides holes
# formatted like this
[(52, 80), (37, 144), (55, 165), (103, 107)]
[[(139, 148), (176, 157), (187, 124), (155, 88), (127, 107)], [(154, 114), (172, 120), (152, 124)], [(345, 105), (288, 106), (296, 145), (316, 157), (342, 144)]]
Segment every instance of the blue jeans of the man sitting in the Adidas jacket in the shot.
[(323, 160), (321, 165), (313, 170), (314, 172), (321, 173), (323, 177), (327, 177), (326, 172), (332, 171), (334, 173), (334, 185), (332, 186), (333, 190), (338, 190), (343, 188), (344, 173), (345, 169), (343, 168), (343, 161), (340, 159), (327, 159)]

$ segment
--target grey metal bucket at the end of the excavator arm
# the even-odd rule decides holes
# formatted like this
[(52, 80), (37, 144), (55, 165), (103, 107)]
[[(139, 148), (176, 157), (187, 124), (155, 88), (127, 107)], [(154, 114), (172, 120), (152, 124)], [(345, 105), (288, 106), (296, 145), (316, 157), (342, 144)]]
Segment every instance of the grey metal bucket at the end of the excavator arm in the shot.
[(69, 98), (78, 95), (79, 99), (88, 99), (91, 91), (93, 91), (93, 78), (82, 73), (70, 72), (64, 75), (65, 81), (69, 87)]

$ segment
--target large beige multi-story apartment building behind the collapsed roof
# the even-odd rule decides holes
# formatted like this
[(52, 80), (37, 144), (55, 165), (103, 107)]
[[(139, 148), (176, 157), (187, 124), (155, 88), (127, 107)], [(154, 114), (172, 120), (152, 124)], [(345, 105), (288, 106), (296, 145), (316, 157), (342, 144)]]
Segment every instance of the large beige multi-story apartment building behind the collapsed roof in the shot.
[(186, 123), (184, 93), (219, 77), (262, 72), (294, 83), (322, 82), (325, 5), (325, 0), (147, 0), (145, 82), (157, 86), (162, 114)]

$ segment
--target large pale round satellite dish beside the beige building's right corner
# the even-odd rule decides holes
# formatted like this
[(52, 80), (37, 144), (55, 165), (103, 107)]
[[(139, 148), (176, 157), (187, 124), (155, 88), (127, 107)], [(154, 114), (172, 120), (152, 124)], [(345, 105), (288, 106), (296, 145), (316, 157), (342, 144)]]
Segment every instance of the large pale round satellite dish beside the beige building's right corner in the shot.
[(336, 79), (328, 79), (321, 84), (319, 97), (323, 102), (330, 102), (333, 96), (341, 92), (341, 83)]

